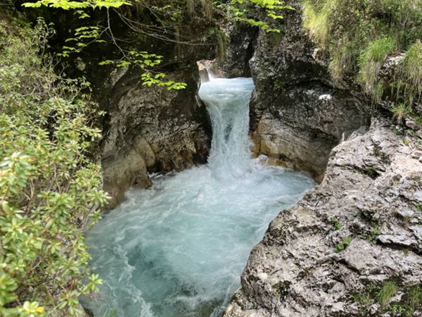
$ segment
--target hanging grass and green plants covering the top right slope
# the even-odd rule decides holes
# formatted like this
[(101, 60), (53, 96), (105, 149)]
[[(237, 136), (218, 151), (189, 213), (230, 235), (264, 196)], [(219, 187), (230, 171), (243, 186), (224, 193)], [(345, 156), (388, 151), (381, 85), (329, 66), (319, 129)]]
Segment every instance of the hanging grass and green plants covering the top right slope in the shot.
[[(409, 106), (421, 100), (422, 0), (304, 0), (303, 13), (337, 85), (352, 78), (374, 101), (391, 90)], [(380, 80), (385, 58), (403, 51), (396, 76)]]

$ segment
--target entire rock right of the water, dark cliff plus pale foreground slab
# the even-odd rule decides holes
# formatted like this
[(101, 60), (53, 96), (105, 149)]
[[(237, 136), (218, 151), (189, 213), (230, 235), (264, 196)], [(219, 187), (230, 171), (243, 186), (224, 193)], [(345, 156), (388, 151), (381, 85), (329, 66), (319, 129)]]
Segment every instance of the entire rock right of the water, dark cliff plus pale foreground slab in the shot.
[(335, 87), (290, 4), (250, 40), (250, 130), (256, 155), (321, 183), (269, 225), (224, 316), (421, 316), (422, 130)]

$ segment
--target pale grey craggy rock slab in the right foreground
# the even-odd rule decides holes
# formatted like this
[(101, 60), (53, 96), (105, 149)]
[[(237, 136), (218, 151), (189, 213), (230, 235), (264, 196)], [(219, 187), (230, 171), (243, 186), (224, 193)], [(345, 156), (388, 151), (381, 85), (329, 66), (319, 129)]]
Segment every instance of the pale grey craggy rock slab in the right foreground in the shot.
[(394, 281), (400, 304), (422, 283), (422, 145), (406, 139), (376, 118), (340, 142), (321, 184), (252, 250), (225, 316), (397, 316), (374, 290)]

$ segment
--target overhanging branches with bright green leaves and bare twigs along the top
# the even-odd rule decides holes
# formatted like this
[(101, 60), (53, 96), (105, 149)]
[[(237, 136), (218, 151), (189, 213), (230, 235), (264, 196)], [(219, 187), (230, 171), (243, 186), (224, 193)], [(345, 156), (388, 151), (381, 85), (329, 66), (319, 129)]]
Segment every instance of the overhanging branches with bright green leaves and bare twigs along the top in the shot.
[[(58, 8), (65, 11), (75, 11), (79, 16), (81, 25), (75, 27), (72, 37), (65, 39), (63, 50), (58, 53), (64, 58), (71, 54), (80, 53), (87, 46), (100, 43), (111, 43), (119, 54), (113, 59), (107, 59), (99, 63), (103, 65), (113, 65), (115, 67), (135, 67), (141, 71), (143, 85), (158, 85), (167, 89), (184, 89), (184, 82), (174, 82), (167, 79), (167, 75), (157, 70), (162, 63), (163, 56), (150, 51), (138, 51), (136, 47), (127, 47), (127, 39), (120, 39), (115, 35), (113, 27), (113, 16), (119, 17), (117, 24), (126, 25), (130, 32), (138, 32), (155, 40), (177, 42), (180, 44), (201, 45), (194, 39), (181, 38), (180, 30), (184, 27), (186, 18), (193, 18), (200, 15), (203, 20), (212, 21), (214, 15), (226, 16), (228, 19), (243, 21), (250, 25), (260, 27), (267, 32), (280, 32), (279, 29), (271, 27), (271, 21), (282, 19), (282, 11), (291, 8), (286, 6), (282, 0), (230, 0), (230, 1), (210, 1), (210, 0), (170, 0), (170, 1), (137, 1), (137, 0), (38, 0), (28, 1), (23, 4), (25, 8)], [(91, 24), (91, 15), (94, 11), (106, 12), (101, 21)], [(113, 12), (112, 12), (113, 11)], [(151, 21), (139, 21), (132, 18), (133, 13), (146, 12), (151, 15)], [(217, 12), (217, 13), (216, 13)], [(260, 18), (254, 15), (258, 13)], [(98, 15), (96, 15), (98, 17)], [(222, 32), (217, 27), (213, 32), (218, 45), (218, 55), (224, 56), (224, 38)], [(223, 39), (223, 41), (222, 41)], [(157, 67), (158, 66), (158, 67)]]

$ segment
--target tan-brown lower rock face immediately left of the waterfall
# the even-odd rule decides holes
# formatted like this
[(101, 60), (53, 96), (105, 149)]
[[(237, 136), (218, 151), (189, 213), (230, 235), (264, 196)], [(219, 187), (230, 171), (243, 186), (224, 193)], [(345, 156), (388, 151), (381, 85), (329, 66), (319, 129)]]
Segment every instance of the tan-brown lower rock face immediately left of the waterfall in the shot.
[(148, 172), (182, 170), (206, 161), (210, 144), (207, 112), (199, 101), (196, 63), (169, 77), (186, 89), (146, 87), (130, 71), (113, 77), (113, 106), (103, 142), (104, 188), (109, 208), (129, 187), (151, 185)]

